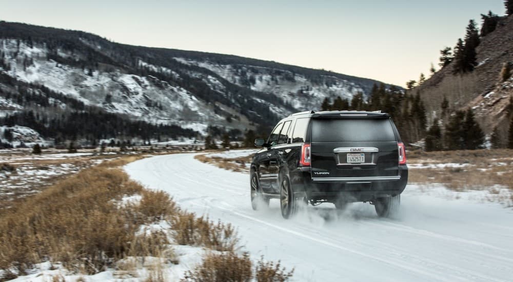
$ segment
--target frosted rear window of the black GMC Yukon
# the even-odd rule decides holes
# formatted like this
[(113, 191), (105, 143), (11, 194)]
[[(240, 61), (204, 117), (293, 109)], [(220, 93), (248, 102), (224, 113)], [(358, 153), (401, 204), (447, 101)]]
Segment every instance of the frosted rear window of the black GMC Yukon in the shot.
[(313, 119), (312, 142), (395, 140), (389, 119)]

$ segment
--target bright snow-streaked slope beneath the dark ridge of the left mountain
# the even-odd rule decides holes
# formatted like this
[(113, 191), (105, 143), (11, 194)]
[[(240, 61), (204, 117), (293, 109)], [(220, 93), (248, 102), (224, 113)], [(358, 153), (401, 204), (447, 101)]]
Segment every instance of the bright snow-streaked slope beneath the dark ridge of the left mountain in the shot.
[[(27, 83), (44, 85), (86, 105), (153, 124), (179, 124), (201, 131), (209, 124), (224, 120), (187, 90), (151, 75), (126, 74), (119, 69), (91, 71), (89, 75), (88, 69), (47, 60), (49, 50), (42, 45), (35, 44), (31, 48), (23, 42), (17, 45), (15, 39), (7, 39), (0, 41), (0, 46), (0, 51), (8, 58), (5, 62), (10, 70), (6, 73)], [(63, 57), (72, 56), (64, 51), (60, 53)], [(27, 60), (30, 61), (28, 66), (24, 65)]]

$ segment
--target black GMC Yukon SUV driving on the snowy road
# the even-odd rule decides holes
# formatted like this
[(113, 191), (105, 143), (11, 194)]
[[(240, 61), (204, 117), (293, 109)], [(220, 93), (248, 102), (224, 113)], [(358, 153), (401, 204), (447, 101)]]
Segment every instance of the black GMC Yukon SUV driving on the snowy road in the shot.
[(408, 181), (401, 137), (386, 113), (300, 112), (280, 120), (251, 162), (251, 206), (280, 199), (284, 218), (298, 206), (370, 202), (379, 216), (399, 208)]

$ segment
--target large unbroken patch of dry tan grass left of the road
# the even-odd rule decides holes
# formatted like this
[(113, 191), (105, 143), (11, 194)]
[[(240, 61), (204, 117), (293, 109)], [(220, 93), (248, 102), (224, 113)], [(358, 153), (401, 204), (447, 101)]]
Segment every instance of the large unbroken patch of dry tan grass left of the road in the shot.
[[(126, 255), (162, 252), (165, 235), (135, 233), (147, 218), (169, 216), (175, 205), (114, 169), (133, 159), (86, 169), (6, 211), (0, 217), (0, 268), (23, 273), (51, 258), (71, 270), (97, 273)], [(120, 208), (112, 201), (133, 194), (142, 194), (139, 205)]]

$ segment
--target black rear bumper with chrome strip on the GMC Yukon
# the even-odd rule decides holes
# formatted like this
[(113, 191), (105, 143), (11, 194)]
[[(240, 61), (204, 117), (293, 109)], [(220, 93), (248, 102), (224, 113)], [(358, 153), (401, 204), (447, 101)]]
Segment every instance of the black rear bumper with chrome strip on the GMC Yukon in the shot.
[(399, 175), (374, 177), (312, 178), (309, 167), (290, 173), (294, 194), (314, 200), (368, 202), (378, 197), (401, 194), (408, 182), (408, 167), (399, 166)]

